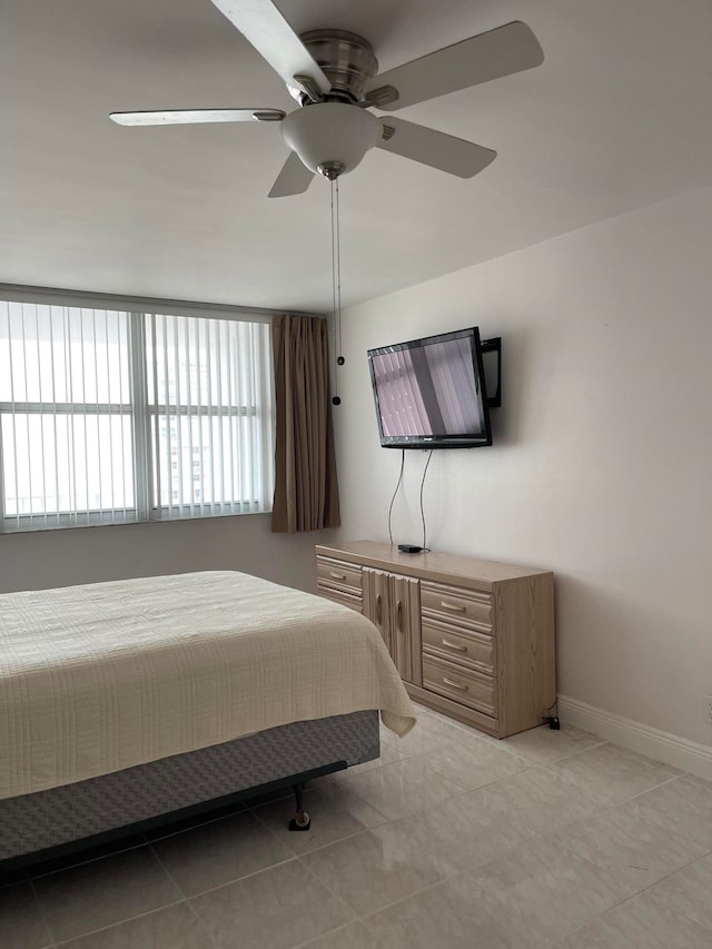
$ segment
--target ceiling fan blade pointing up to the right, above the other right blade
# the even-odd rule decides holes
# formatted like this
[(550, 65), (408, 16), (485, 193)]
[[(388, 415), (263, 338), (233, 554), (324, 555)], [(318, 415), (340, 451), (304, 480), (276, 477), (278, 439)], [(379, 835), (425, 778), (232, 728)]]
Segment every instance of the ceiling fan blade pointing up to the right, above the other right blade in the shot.
[[(373, 102), (378, 109), (395, 111), (501, 76), (532, 69), (543, 61), (544, 51), (532, 30), (526, 23), (515, 20), (375, 76), (366, 86), (365, 97), (368, 101), (373, 95)], [(384, 92), (378, 101), (378, 91), (387, 87), (393, 87), (398, 98), (388, 101)]]

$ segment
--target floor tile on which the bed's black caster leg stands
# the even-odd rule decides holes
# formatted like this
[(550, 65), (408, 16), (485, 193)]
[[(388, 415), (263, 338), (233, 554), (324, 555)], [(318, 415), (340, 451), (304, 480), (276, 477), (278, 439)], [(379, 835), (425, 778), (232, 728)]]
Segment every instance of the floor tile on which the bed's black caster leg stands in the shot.
[(385, 823), (386, 818), (358, 798), (344, 783), (320, 779), (305, 799), (312, 827), (304, 832), (288, 829), (294, 801), (275, 801), (255, 811), (257, 819), (294, 853), (308, 853), (327, 843)]

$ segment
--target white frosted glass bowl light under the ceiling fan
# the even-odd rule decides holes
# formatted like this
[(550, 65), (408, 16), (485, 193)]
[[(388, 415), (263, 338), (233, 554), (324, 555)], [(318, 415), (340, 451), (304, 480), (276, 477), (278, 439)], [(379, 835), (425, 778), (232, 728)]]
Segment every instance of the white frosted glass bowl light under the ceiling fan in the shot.
[(383, 134), (370, 112), (345, 102), (319, 102), (290, 112), (279, 126), (285, 145), (315, 174), (339, 162), (352, 171)]

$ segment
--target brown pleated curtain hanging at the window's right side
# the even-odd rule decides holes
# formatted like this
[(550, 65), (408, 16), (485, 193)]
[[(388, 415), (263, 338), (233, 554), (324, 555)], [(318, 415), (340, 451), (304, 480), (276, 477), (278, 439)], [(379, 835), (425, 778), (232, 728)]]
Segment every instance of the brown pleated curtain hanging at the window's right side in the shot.
[(277, 428), (273, 532), (338, 527), (338, 484), (325, 319), (273, 322)]

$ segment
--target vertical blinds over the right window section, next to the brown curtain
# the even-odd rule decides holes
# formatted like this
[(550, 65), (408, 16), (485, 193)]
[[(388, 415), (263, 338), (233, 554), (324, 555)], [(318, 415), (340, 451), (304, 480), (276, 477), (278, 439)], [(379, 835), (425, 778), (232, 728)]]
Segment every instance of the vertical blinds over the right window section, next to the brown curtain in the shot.
[(147, 353), (156, 515), (269, 510), (269, 326), (154, 314)]

